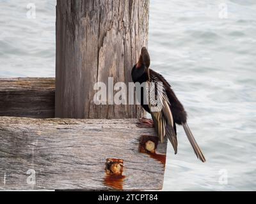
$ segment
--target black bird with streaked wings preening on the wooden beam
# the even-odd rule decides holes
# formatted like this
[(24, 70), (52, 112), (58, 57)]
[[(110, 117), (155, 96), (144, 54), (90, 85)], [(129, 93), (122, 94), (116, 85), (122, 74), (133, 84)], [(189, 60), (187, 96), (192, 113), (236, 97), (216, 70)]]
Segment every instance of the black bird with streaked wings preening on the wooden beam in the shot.
[[(185, 130), (188, 140), (191, 143), (196, 156), (203, 162), (205, 162), (204, 154), (198, 147), (198, 144), (193, 137), (188, 124), (187, 113), (182, 103), (175, 95), (171, 85), (164, 79), (162, 75), (149, 69), (150, 57), (147, 52), (147, 48), (141, 49), (140, 59), (137, 64), (132, 68), (132, 80), (134, 83), (138, 82), (143, 84), (145, 82), (154, 82), (163, 84), (163, 110), (158, 112), (152, 112), (150, 103), (145, 103), (143, 98), (145, 97), (145, 89), (141, 87), (141, 106), (152, 115), (155, 129), (158, 133), (159, 140), (163, 142), (164, 136), (168, 136), (170, 142), (173, 145), (175, 154), (177, 153), (177, 131), (176, 124), (182, 125)], [(155, 92), (157, 94), (157, 91)]]

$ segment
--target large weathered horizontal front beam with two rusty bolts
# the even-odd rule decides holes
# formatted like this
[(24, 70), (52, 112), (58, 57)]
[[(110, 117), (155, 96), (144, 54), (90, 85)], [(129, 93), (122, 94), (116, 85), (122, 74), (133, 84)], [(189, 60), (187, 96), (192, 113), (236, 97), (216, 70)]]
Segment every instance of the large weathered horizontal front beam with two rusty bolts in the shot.
[(104, 170), (112, 157), (124, 159), (122, 189), (161, 189), (164, 164), (138, 152), (141, 135), (156, 133), (137, 122), (0, 117), (0, 189), (115, 189)]

